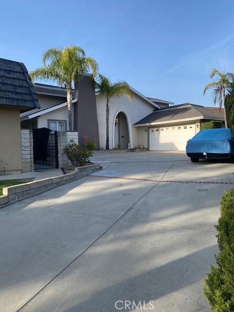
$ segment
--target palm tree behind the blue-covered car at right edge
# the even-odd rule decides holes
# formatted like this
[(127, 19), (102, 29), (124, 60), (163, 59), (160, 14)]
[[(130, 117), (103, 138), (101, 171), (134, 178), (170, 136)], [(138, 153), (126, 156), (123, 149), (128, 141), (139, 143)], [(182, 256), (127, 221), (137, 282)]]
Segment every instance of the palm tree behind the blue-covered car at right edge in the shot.
[(205, 95), (207, 90), (214, 89), (213, 90), (214, 104), (218, 102), (219, 108), (221, 109), (223, 107), (225, 128), (228, 128), (227, 115), (224, 103), (226, 95), (227, 93), (229, 93), (232, 82), (234, 81), (234, 74), (232, 73), (225, 74), (219, 72), (215, 68), (212, 68), (210, 72), (210, 78), (213, 78), (215, 75), (219, 76), (219, 79), (217, 81), (214, 80), (213, 82), (208, 83), (203, 90), (203, 95)]

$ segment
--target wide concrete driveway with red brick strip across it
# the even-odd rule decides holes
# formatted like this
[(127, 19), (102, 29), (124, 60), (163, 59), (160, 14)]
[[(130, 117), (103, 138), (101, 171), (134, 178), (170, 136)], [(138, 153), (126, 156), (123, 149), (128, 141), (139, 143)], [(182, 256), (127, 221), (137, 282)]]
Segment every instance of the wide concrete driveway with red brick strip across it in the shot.
[(103, 170), (0, 210), (0, 311), (211, 311), (203, 276), (234, 165), (182, 152), (94, 160)]

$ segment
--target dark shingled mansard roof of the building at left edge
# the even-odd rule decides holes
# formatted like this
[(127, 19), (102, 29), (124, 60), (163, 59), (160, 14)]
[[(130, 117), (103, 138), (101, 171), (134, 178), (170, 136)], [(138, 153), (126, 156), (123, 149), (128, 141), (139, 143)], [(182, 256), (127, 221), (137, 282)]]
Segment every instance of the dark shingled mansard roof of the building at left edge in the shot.
[(0, 59), (0, 105), (39, 108), (39, 101), (23, 63)]

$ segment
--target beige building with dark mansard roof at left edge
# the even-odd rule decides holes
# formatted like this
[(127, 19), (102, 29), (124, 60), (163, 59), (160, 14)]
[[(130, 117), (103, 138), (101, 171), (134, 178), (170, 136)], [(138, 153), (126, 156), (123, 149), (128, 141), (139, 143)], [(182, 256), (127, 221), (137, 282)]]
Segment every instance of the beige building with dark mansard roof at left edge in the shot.
[(20, 113), (39, 107), (24, 64), (0, 59), (0, 174), (21, 173)]

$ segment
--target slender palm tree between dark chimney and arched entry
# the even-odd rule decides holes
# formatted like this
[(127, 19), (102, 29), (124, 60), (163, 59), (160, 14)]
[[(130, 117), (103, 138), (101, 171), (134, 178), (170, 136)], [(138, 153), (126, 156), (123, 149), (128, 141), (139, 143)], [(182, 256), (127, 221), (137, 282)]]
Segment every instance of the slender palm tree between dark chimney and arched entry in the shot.
[(98, 75), (98, 80), (95, 81), (97, 91), (106, 98), (106, 150), (109, 150), (109, 116), (110, 107), (109, 101), (113, 97), (125, 96), (132, 101), (132, 92), (129, 85), (125, 81), (111, 83), (110, 79)]

